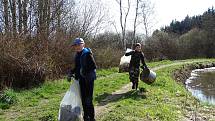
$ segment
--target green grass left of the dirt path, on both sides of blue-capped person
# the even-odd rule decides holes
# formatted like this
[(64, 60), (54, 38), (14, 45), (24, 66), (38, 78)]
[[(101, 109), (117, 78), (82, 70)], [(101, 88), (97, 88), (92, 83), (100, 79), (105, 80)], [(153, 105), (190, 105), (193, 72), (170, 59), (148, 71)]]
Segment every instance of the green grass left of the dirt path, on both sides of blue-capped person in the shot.
[[(118, 73), (118, 68), (97, 70), (94, 103), (98, 104), (111, 92), (120, 89), (128, 82), (128, 74)], [(9, 109), (0, 109), (0, 120), (57, 120), (60, 101), (69, 86), (70, 83), (63, 79), (47, 81), (40, 87), (30, 90), (11, 90), (10, 92), (15, 95), (17, 101), (8, 106)]]

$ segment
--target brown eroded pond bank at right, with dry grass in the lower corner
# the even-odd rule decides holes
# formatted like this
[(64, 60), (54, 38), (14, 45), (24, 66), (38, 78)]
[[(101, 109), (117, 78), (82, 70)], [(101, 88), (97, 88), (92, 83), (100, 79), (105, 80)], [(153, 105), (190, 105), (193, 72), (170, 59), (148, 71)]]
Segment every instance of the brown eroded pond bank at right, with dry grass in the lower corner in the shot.
[[(195, 63), (195, 64), (189, 64), (184, 65), (180, 69), (177, 69), (173, 73), (173, 78), (179, 82), (182, 83), (184, 86), (186, 86), (185, 82), (186, 80), (191, 76), (192, 70), (195, 69), (203, 69), (203, 68), (209, 68), (209, 67), (215, 67), (215, 63)], [(215, 105), (207, 104), (204, 102), (201, 102), (200, 100), (196, 99), (196, 102), (193, 105), (186, 105), (186, 118), (185, 121), (194, 120), (194, 121), (211, 121), (215, 120)]]

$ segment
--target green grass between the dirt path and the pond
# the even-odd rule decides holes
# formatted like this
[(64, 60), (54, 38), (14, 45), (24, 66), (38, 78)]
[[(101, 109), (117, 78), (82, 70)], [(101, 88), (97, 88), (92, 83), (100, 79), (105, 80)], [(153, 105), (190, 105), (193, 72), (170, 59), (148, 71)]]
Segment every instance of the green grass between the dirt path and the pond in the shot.
[[(206, 62), (210, 61), (207, 60)], [(187, 111), (185, 108), (190, 108), (191, 111), (195, 111), (195, 106), (199, 102), (191, 96), (191, 93), (187, 92), (183, 84), (177, 83), (172, 79), (172, 72), (180, 67), (182, 67), (182, 65), (156, 71), (157, 79), (154, 84), (146, 85), (144, 83), (140, 83), (140, 88), (146, 88), (146, 93), (142, 94), (139, 91), (128, 92), (123, 98), (113, 104), (109, 113), (100, 116), (98, 120), (182, 120), (181, 117), (183, 117)], [(203, 104), (199, 107), (201, 106), (203, 106)], [(214, 106), (209, 107), (212, 108), (211, 110), (215, 109)]]

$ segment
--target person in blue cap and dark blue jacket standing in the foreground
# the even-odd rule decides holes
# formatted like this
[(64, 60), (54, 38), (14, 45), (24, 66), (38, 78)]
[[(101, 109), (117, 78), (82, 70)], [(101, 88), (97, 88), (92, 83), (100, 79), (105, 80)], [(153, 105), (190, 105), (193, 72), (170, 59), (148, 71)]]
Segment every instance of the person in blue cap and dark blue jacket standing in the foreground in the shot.
[(75, 74), (75, 79), (79, 80), (84, 121), (95, 121), (93, 87), (94, 80), (96, 80), (96, 63), (90, 48), (84, 47), (85, 43), (82, 38), (76, 38), (71, 46), (76, 51), (76, 56), (75, 68), (70, 71), (69, 75)]

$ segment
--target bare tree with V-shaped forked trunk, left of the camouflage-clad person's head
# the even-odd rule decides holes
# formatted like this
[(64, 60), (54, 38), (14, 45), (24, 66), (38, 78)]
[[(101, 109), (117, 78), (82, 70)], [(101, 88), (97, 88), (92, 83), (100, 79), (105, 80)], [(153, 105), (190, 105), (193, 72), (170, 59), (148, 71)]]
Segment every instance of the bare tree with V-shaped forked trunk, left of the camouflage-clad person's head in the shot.
[[(120, 8), (120, 25), (122, 30), (122, 46), (124, 49), (126, 49), (126, 42), (125, 42), (125, 31), (126, 31), (126, 24), (127, 24), (127, 17), (130, 11), (130, 0), (127, 0), (127, 7), (126, 10), (124, 10), (124, 7), (122, 6), (122, 0), (116, 0), (116, 2), (119, 4)], [(123, 14), (125, 14), (124, 21), (123, 21)]]

